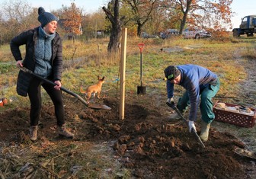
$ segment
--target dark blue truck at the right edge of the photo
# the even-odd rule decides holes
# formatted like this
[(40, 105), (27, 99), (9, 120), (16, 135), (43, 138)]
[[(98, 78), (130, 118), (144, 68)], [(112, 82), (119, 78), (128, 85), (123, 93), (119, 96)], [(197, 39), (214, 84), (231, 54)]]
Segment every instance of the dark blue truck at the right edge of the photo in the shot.
[(242, 18), (242, 22), (239, 28), (232, 30), (233, 37), (240, 37), (240, 35), (246, 34), (247, 37), (253, 37), (256, 33), (256, 15), (248, 15)]

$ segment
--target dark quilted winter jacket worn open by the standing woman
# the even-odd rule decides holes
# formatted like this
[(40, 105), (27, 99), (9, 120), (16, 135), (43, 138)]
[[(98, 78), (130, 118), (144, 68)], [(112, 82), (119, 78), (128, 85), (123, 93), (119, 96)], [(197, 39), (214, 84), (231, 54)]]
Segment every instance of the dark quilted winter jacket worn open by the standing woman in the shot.
[[(16, 61), (22, 60), (20, 46), (26, 45), (26, 54), (23, 60), (23, 66), (34, 72), (36, 66), (35, 44), (38, 40), (38, 29), (27, 30), (11, 40), (11, 53)], [(56, 33), (52, 40), (52, 56), (50, 63), (53, 68), (50, 80), (61, 80), (62, 78), (62, 38)], [(30, 85), (31, 75), (20, 70), (17, 81), (17, 93), (21, 96), (27, 96), (27, 90)]]

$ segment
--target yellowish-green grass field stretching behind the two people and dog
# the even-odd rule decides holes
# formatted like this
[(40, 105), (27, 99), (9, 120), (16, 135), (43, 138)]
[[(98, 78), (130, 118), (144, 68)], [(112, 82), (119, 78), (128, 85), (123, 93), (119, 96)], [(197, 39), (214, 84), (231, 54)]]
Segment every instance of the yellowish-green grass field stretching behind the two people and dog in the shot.
[[(107, 54), (107, 39), (86, 42), (63, 43), (64, 71), (62, 85), (78, 92), (80, 85), (86, 86), (97, 81), (98, 75), (105, 75), (107, 88), (117, 88), (120, 78), (120, 52)], [(219, 98), (226, 97), (229, 102), (239, 93), (239, 84), (248, 77), (245, 64), (254, 60), (254, 39), (227, 40), (183, 40), (183, 39), (129, 39), (126, 55), (126, 91), (136, 93), (140, 83), (140, 53), (138, 43), (145, 43), (142, 53), (142, 82), (149, 88), (161, 88), (163, 69), (169, 65), (185, 63), (204, 66), (219, 75), (222, 87)], [(162, 49), (162, 50), (161, 50)], [(21, 48), (24, 54), (24, 49)], [(8, 45), (0, 49), (1, 95), (17, 98), (15, 84), (18, 69)]]

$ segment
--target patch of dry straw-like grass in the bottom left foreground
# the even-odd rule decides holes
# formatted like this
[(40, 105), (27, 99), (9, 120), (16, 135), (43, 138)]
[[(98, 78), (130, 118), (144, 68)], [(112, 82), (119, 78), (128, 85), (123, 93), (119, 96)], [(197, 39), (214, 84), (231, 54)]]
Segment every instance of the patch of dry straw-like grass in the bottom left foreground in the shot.
[[(0, 176), (11, 178), (116, 178), (130, 175), (113, 158), (109, 143), (60, 141), (41, 139), (32, 145), (24, 135), (24, 143), (2, 147), (0, 171), (12, 171)], [(105, 155), (102, 155), (104, 153)], [(73, 160), (73, 159), (74, 160)], [(80, 158), (77, 160), (77, 158)], [(69, 170), (69, 171), (67, 171)], [(70, 175), (71, 173), (71, 175)], [(120, 175), (120, 176), (118, 176)]]

